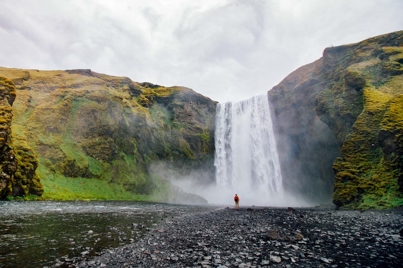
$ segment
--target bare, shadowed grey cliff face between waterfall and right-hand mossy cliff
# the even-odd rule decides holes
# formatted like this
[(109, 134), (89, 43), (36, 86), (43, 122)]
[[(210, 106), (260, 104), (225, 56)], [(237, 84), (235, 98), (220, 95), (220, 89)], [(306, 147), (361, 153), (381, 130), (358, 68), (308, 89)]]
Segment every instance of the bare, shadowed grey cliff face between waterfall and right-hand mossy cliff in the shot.
[(323, 90), (322, 59), (302, 66), (268, 92), (284, 188), (314, 203), (330, 203), (340, 156), (337, 142), (316, 115), (315, 96)]

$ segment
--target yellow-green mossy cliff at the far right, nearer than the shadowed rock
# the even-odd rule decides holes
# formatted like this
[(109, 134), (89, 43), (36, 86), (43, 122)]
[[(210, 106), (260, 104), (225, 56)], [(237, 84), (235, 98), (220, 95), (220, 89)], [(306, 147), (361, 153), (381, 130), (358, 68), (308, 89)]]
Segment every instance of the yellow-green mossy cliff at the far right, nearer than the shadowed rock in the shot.
[(346, 46), (353, 56), (324, 53), (324, 61), (346, 67), (339, 81), (316, 97), (318, 115), (341, 146), (333, 165), (333, 202), (339, 207), (403, 204), (396, 145), (403, 128), (403, 72), (396, 61), (402, 47), (393, 46), (402, 36), (396, 32)]

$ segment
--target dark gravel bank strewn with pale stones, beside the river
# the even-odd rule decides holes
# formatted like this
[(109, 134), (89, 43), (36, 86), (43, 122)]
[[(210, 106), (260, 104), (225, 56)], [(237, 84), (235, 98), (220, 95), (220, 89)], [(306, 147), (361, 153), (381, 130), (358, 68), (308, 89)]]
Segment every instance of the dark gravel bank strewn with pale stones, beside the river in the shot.
[(401, 210), (253, 209), (167, 218), (138, 242), (56, 266), (402, 267)]

